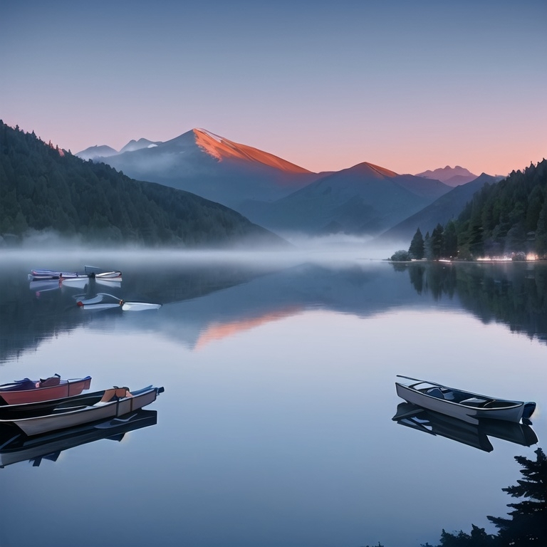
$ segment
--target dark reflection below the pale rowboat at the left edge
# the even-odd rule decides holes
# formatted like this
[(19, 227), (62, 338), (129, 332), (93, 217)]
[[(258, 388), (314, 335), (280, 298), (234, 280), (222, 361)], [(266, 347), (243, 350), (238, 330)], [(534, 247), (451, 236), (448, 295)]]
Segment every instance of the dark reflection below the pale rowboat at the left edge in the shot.
[(42, 459), (55, 462), (63, 450), (100, 439), (121, 441), (127, 432), (156, 423), (156, 410), (141, 409), (122, 417), (61, 429), (35, 437), (28, 437), (16, 427), (3, 425), (0, 427), (0, 467), (27, 460), (32, 462), (33, 467), (39, 466)]

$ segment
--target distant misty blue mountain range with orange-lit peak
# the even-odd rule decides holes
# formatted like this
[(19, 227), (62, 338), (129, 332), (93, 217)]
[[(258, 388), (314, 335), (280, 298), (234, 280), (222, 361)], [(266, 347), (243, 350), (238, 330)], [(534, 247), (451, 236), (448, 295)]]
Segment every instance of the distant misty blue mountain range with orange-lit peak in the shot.
[(95, 146), (77, 155), (224, 204), (280, 234), (377, 236), (451, 192), (457, 181), (476, 178), (459, 166), (412, 175), (368, 162), (315, 173), (204, 129), (165, 142), (132, 140), (120, 152)]

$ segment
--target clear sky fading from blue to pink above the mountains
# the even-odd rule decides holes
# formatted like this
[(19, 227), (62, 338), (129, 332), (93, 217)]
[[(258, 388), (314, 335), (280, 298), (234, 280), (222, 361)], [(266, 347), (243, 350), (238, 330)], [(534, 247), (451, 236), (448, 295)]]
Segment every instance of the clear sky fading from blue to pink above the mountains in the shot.
[(4, 1), (0, 119), (76, 153), (201, 127), (314, 172), (547, 156), (546, 0)]

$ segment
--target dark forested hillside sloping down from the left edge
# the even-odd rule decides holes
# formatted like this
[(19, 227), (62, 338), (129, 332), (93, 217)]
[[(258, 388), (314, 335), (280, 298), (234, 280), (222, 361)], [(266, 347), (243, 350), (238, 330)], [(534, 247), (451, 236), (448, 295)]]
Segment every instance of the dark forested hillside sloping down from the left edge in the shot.
[(31, 231), (111, 245), (282, 241), (227, 207), (85, 162), (0, 120), (0, 236)]

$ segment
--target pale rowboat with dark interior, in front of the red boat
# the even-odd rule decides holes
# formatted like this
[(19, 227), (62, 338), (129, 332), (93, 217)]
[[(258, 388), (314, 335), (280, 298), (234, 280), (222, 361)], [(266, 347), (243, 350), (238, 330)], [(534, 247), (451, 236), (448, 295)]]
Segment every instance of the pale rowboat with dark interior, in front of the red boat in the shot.
[(150, 405), (163, 391), (163, 387), (151, 385), (134, 392), (130, 392), (127, 387), (113, 387), (92, 395), (67, 397), (56, 402), (0, 407), (0, 424), (19, 427), (28, 436), (40, 435), (127, 415)]

